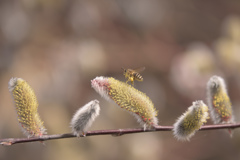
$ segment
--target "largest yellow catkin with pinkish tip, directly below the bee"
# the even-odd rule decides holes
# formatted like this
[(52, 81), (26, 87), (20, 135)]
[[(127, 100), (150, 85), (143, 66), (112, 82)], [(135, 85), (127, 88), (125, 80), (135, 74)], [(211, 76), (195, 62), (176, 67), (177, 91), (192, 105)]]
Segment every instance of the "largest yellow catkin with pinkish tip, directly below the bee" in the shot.
[(113, 100), (134, 115), (144, 130), (158, 125), (157, 111), (146, 94), (114, 78), (96, 77), (91, 84), (106, 100)]

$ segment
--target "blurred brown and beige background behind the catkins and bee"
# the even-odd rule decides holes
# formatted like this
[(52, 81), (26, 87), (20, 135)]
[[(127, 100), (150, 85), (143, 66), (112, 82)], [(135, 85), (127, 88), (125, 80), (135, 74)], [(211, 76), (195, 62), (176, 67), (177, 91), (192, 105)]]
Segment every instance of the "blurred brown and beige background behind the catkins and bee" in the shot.
[[(93, 99), (100, 116), (90, 130), (138, 128), (134, 117), (91, 88), (96, 76), (125, 81), (138, 68), (160, 125), (172, 125), (195, 100), (206, 102), (212, 75), (228, 85), (240, 121), (240, 2), (190, 0), (1, 0), (0, 138), (25, 137), (8, 91), (11, 77), (34, 88), (48, 134), (69, 133), (74, 112)], [(212, 124), (211, 120), (207, 124)], [(0, 159), (239, 160), (240, 129), (94, 136), (0, 146)]]

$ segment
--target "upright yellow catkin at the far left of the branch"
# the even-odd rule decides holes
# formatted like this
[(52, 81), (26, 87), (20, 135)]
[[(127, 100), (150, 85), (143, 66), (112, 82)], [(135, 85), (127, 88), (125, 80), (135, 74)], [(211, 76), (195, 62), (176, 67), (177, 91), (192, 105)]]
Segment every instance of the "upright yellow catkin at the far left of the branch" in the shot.
[(38, 114), (38, 102), (33, 89), (21, 78), (11, 78), (8, 88), (13, 96), (18, 122), (24, 134), (37, 137), (45, 134), (46, 129)]

